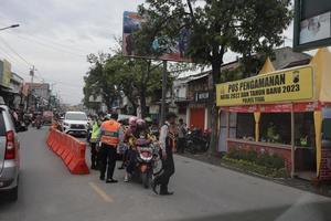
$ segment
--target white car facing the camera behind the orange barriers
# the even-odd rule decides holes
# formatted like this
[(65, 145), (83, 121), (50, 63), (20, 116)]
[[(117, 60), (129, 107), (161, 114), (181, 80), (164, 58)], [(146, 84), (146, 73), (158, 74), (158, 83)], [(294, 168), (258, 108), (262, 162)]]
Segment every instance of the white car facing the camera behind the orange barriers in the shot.
[(87, 116), (84, 112), (66, 112), (62, 123), (62, 129), (66, 134), (87, 135)]

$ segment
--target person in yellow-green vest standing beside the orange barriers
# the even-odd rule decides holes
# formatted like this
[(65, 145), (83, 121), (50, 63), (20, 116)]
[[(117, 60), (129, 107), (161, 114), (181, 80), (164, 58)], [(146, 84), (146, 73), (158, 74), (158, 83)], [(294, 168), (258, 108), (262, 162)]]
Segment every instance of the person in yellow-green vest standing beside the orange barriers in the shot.
[(98, 169), (98, 151), (97, 151), (97, 138), (99, 134), (100, 122), (97, 117), (94, 118), (92, 125), (92, 133), (89, 138), (89, 146), (90, 146), (90, 169)]

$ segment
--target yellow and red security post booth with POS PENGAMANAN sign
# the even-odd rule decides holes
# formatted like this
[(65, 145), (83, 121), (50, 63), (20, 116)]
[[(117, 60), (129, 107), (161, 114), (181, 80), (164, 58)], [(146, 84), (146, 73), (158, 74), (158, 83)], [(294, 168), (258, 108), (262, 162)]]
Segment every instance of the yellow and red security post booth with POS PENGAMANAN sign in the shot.
[(278, 155), (289, 175), (331, 179), (331, 54), (320, 50), (310, 65), (217, 85), (220, 144), (225, 151)]

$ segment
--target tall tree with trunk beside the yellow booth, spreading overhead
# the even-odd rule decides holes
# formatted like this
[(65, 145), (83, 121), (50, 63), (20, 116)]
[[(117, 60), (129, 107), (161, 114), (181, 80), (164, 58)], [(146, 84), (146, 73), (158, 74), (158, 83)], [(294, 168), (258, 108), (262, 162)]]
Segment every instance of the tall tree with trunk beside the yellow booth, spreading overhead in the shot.
[[(282, 43), (281, 33), (292, 17), (290, 0), (146, 0), (139, 7), (147, 24), (175, 42), (181, 29), (191, 30), (188, 55), (196, 63), (212, 66), (212, 146), (216, 146), (218, 114), (215, 85), (220, 83), (224, 55), (237, 52), (243, 57), (270, 51)], [(153, 39), (153, 38), (150, 38)], [(152, 41), (149, 42), (151, 44)]]

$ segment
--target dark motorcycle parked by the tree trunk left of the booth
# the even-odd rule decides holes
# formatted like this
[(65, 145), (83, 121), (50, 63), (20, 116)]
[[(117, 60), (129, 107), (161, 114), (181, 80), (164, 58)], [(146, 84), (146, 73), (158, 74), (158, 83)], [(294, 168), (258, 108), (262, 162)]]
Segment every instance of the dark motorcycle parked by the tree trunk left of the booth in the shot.
[(202, 131), (199, 128), (194, 128), (186, 134), (185, 149), (195, 155), (196, 152), (206, 152), (210, 147), (211, 131), (209, 129)]

